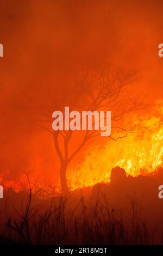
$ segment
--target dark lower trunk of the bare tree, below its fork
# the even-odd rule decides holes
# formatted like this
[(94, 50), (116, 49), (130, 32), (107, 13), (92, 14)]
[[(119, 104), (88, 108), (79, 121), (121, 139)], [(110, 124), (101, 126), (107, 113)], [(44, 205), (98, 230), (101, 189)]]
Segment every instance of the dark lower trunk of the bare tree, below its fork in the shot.
[(60, 166), (60, 184), (61, 184), (62, 194), (64, 196), (66, 196), (68, 192), (70, 192), (67, 185), (67, 180), (66, 180), (66, 169), (67, 169), (67, 163), (62, 162)]

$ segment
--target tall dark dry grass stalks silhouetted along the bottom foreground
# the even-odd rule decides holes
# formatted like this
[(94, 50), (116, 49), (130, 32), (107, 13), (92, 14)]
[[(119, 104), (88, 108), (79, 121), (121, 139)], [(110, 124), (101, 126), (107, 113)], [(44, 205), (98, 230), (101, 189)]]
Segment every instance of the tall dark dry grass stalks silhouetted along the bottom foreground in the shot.
[[(17, 218), (8, 218), (8, 236), (18, 243), (38, 245), (148, 245), (146, 224), (141, 221), (136, 199), (130, 199), (130, 216), (110, 209), (105, 194), (90, 204), (81, 194), (76, 206), (58, 196), (44, 212), (32, 206), (32, 188), (26, 207)], [(73, 206), (73, 207), (71, 207)], [(154, 241), (152, 241), (154, 243)]]

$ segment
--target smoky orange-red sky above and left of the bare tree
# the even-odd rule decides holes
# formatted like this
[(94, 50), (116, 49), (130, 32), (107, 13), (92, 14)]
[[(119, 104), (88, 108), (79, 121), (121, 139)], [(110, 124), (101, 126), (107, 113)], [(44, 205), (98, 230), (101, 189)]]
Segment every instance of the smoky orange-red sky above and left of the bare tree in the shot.
[(162, 97), (162, 15), (161, 0), (1, 0), (0, 174), (10, 171), (12, 179), (39, 159), (42, 170), (57, 174), (51, 136), (20, 124), (18, 112), (29, 108), (30, 100), (21, 97), (24, 88), (32, 88), (36, 99), (45, 84), (55, 87), (58, 68), (72, 61), (89, 62), (93, 69), (106, 63), (138, 69), (141, 80), (132, 89), (151, 102)]

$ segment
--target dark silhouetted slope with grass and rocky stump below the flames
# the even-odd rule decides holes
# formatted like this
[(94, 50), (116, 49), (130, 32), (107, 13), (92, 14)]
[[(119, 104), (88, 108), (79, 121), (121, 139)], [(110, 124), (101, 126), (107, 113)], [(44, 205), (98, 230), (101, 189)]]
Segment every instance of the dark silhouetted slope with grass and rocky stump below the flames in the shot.
[[(155, 210), (162, 212), (161, 200), (156, 201), (156, 207), (154, 203), (150, 204), (152, 194), (155, 197), (156, 181), (143, 176), (127, 178), (119, 167), (112, 169), (111, 177), (110, 185), (97, 184), (90, 191), (88, 188), (73, 191), (67, 197), (36, 198), (30, 181), (26, 192), (6, 192), (8, 199), (1, 211), (0, 243), (161, 244), (162, 236), (158, 230), (161, 217), (155, 218)], [(151, 189), (147, 191), (146, 186)], [(145, 198), (141, 197), (144, 192)], [(14, 203), (12, 197), (16, 198)]]

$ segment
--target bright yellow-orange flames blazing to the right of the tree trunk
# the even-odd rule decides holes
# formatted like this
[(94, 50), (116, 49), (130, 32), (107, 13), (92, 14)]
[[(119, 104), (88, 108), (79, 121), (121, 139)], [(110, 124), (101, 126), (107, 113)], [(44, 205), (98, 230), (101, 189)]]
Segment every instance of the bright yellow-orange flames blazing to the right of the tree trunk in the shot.
[(112, 167), (120, 166), (127, 175), (148, 175), (161, 166), (163, 156), (163, 101), (143, 116), (143, 128), (136, 135), (116, 142), (108, 141), (104, 147), (89, 148), (83, 163), (68, 172), (72, 190), (109, 182)]

